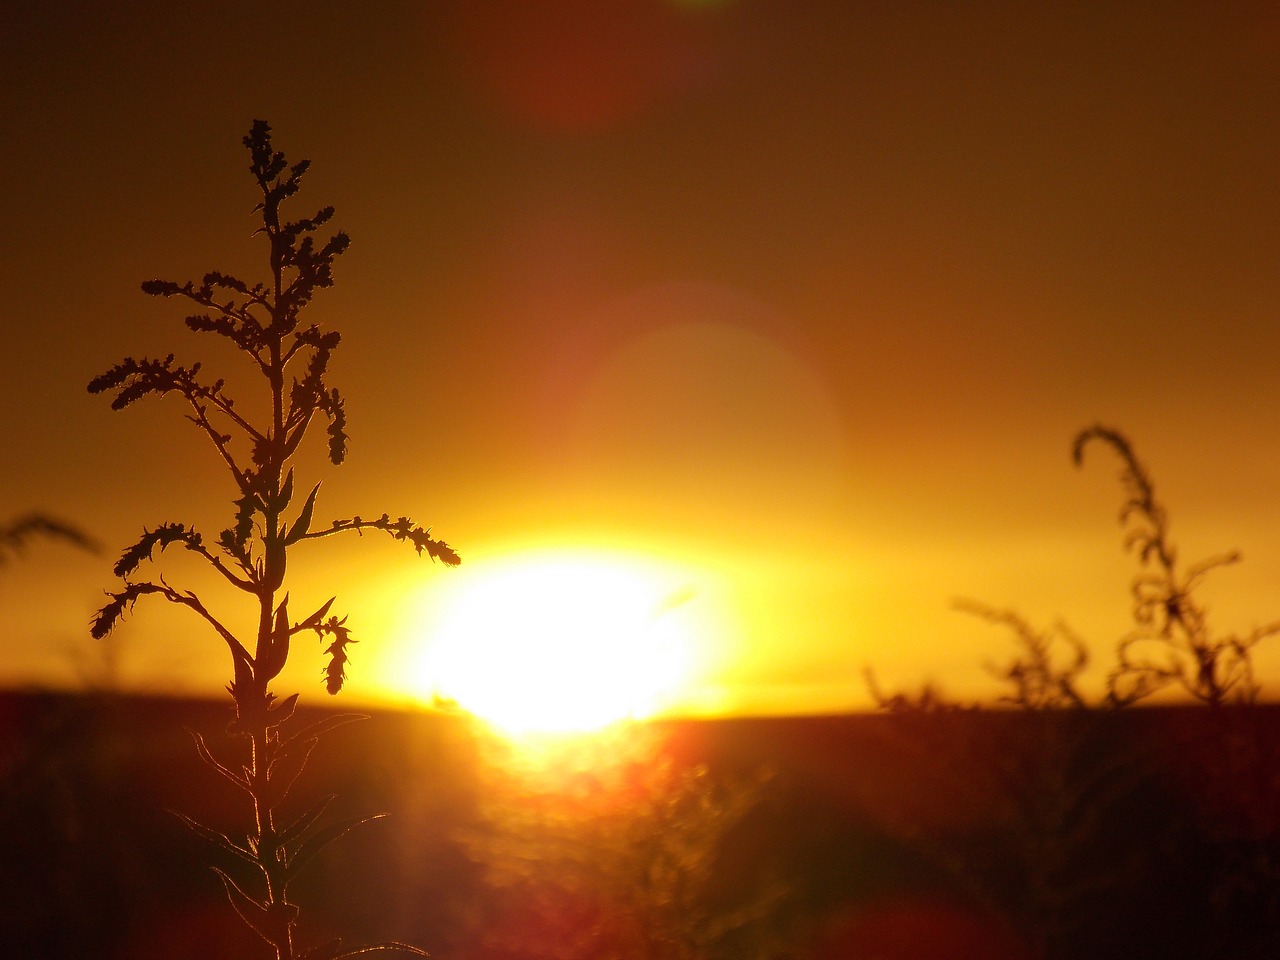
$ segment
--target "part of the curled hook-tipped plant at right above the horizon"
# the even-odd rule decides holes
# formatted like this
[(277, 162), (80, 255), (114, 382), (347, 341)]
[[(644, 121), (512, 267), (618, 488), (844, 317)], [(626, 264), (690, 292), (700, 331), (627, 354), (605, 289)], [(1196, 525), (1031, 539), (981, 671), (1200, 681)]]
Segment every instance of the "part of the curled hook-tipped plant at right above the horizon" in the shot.
[(1280, 632), (1280, 622), (1244, 635), (1219, 635), (1196, 596), (1210, 571), (1238, 563), (1240, 554), (1233, 550), (1183, 568), (1169, 536), (1169, 515), (1129, 440), (1106, 426), (1082, 430), (1071, 447), (1076, 466), (1084, 463), (1085, 447), (1093, 440), (1120, 457), (1126, 495), (1120, 524), (1125, 548), (1133, 550), (1140, 567), (1130, 585), (1135, 627), (1116, 648), (1116, 666), (1108, 677), (1111, 695), (1117, 703), (1133, 703), (1178, 685), (1210, 707), (1229, 699), (1252, 703), (1258, 695), (1253, 648)]

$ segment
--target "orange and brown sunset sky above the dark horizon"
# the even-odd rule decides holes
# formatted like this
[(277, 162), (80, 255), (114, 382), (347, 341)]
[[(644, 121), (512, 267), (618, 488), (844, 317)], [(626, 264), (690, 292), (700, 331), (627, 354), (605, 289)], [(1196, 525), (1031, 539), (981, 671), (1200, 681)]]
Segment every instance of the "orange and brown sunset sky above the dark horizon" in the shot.
[(311, 308), (352, 438), (305, 462), (319, 512), (463, 557), (294, 568), (351, 614), (355, 699), (403, 692), (448, 577), (538, 550), (666, 571), (704, 623), (676, 710), (856, 709), (867, 667), (989, 696), (1007, 637), (956, 598), (1068, 621), (1096, 680), (1134, 563), (1115, 458), (1070, 461), (1094, 422), (1188, 561), (1243, 552), (1215, 622), (1280, 616), (1270, 4), (10, 3), (0, 37), (0, 515), (105, 545), (0, 571), (0, 681), (225, 682), (183, 611), (87, 636), (118, 552), (232, 492), (177, 403), (84, 385), (169, 352), (236, 383), (140, 283), (260, 275), (256, 118), (352, 237)]

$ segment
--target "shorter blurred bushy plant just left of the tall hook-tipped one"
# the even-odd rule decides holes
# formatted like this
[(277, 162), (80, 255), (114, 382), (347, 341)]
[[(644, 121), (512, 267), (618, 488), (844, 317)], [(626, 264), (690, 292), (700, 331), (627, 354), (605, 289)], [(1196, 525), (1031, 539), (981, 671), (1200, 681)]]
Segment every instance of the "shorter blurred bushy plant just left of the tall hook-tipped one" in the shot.
[(1014, 653), (987, 671), (1001, 685), (995, 704), (1012, 713), (950, 700), (932, 686), (886, 695), (868, 678), (900, 735), (946, 737), (946, 749), (928, 750), (937, 788), (984, 826), (951, 833), (904, 822), (895, 829), (966, 896), (1016, 919), (1032, 956), (1075, 956), (1097, 899), (1135, 876), (1132, 858), (1102, 849), (1102, 828), (1133, 794), (1139, 768), (1123, 749), (1103, 748), (1097, 721), (1114, 704), (1091, 703), (1082, 691), (1089, 653), (1070, 627), (1041, 630), (973, 600), (956, 607), (1010, 632)]

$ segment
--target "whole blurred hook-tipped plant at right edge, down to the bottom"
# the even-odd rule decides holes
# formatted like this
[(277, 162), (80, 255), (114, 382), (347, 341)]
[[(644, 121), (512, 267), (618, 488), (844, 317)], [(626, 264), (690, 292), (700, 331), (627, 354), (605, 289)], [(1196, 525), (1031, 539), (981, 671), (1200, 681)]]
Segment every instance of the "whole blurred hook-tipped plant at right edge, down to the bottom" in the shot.
[(1280, 622), (1247, 634), (1215, 631), (1197, 590), (1210, 571), (1238, 563), (1240, 554), (1183, 567), (1169, 515), (1133, 445), (1117, 430), (1092, 426), (1075, 438), (1076, 466), (1092, 440), (1120, 458), (1120, 524), (1139, 563), (1130, 584), (1134, 630), (1117, 645), (1110, 695), (1134, 703), (1172, 686), (1211, 708), (1210, 722), (1198, 724), (1208, 749), (1187, 759), (1199, 787), (1199, 829), (1210, 841), (1204, 955), (1271, 956), (1280, 936), (1280, 742), (1258, 710), (1253, 654), (1280, 634)]

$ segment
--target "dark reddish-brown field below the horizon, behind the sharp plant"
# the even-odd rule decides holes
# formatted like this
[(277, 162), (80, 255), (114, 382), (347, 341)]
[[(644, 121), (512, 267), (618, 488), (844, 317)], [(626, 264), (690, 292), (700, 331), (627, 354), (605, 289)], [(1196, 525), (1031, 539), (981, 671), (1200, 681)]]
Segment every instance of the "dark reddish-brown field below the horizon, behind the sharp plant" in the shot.
[[(227, 719), (216, 703), (0, 700), (5, 956), (270, 954), (207, 869), (230, 865), (168, 813), (236, 832), (242, 797), (184, 732), (227, 755)], [(1280, 942), (1271, 707), (675, 722), (650, 736), (605, 751), (616, 777), (529, 787), (481, 762), (492, 749), (454, 717), (378, 713), (335, 731), (289, 803), (333, 792), (330, 819), (390, 817), (315, 859), (294, 891), (303, 945), (1170, 960), (1270, 957)]]

